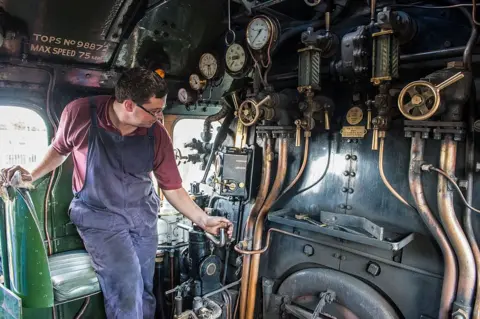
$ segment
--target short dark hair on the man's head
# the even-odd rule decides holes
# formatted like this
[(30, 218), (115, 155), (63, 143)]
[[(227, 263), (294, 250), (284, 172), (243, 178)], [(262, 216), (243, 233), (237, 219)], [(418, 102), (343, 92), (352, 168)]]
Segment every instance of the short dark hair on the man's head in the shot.
[(168, 93), (167, 83), (155, 72), (144, 68), (131, 68), (122, 73), (115, 86), (115, 99), (123, 103), (147, 103), (150, 98), (163, 98)]

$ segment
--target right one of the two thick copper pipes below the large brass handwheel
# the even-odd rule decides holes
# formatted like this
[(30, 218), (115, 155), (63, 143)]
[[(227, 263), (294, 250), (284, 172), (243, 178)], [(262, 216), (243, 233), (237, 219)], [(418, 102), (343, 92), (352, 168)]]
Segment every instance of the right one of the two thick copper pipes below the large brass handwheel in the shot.
[[(457, 142), (452, 140), (451, 135), (446, 135), (440, 149), (440, 169), (450, 176), (455, 174), (456, 155)], [(455, 215), (453, 193), (448, 189), (447, 179), (441, 175), (438, 177), (437, 200), (440, 219), (458, 258), (459, 276), (455, 304), (467, 312), (468, 318), (475, 290), (475, 261), (467, 237)]]

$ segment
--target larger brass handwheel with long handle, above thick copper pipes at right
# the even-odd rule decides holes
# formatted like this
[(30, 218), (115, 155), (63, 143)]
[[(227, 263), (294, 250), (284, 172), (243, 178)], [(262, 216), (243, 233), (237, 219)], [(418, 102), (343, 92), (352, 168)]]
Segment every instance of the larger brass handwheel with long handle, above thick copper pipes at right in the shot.
[(398, 96), (398, 108), (409, 120), (423, 121), (431, 118), (440, 106), (440, 91), (461, 80), (462, 72), (455, 74), (438, 85), (427, 81), (414, 81), (405, 86)]

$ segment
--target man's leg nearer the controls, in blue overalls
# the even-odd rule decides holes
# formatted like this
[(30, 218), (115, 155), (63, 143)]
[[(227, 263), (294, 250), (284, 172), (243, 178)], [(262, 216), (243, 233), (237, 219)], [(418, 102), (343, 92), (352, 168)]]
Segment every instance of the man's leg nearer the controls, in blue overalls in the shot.
[(143, 318), (155, 316), (155, 296), (153, 294), (153, 275), (155, 272), (155, 255), (157, 253), (157, 228), (133, 230), (131, 233), (133, 247), (140, 262), (143, 278)]

